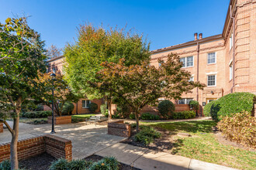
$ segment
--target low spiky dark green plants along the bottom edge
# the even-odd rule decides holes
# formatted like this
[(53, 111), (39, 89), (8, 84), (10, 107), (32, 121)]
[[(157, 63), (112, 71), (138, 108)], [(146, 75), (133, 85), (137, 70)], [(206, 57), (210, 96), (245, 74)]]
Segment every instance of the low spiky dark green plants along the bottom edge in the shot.
[(50, 165), (50, 170), (67, 170), (67, 169), (88, 169), (88, 170), (116, 170), (119, 168), (119, 162), (114, 157), (102, 158), (99, 162), (86, 162), (85, 160), (67, 160), (61, 158)]

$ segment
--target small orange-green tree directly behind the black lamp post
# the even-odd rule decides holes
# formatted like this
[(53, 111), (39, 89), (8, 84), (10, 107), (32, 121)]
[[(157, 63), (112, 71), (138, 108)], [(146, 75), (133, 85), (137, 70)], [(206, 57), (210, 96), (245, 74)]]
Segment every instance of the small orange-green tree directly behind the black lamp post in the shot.
[(40, 93), (38, 93), (36, 100), (50, 108), (52, 108), (53, 101), (51, 90), (54, 88), (54, 113), (58, 116), (62, 115), (63, 107), (67, 102), (76, 103), (81, 98), (71, 91), (60, 72), (56, 73), (54, 79), (50, 73), (40, 73), (38, 83), (40, 83)]

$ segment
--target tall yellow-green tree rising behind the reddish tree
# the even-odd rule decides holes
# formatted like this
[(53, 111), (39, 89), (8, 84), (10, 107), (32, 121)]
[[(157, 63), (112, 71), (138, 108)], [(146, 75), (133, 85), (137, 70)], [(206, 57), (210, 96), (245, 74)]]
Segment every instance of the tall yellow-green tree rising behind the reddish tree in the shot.
[(123, 29), (95, 28), (81, 25), (78, 29), (78, 41), (67, 44), (64, 49), (67, 67), (66, 80), (76, 93), (85, 93), (89, 99), (105, 97), (108, 101), (109, 119), (111, 119), (112, 92), (103, 93), (88, 83), (96, 82), (96, 73), (102, 70), (102, 62), (118, 63), (124, 58), (126, 66), (149, 62), (149, 44), (144, 37)]

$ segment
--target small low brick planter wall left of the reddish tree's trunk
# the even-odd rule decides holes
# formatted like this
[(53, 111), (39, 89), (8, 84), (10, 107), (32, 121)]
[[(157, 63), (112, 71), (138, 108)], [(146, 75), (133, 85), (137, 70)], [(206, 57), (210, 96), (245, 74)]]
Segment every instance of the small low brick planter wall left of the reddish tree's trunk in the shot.
[(130, 124), (124, 124), (123, 121), (113, 121), (108, 123), (108, 134), (130, 137)]

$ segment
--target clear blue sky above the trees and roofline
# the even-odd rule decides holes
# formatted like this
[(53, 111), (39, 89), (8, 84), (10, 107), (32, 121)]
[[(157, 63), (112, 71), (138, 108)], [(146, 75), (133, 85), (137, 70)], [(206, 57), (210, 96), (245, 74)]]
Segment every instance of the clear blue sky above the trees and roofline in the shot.
[(76, 39), (77, 27), (136, 29), (159, 49), (222, 33), (230, 0), (0, 0), (0, 22), (13, 14), (31, 15), (29, 26), (40, 32), (46, 45), (63, 48)]

